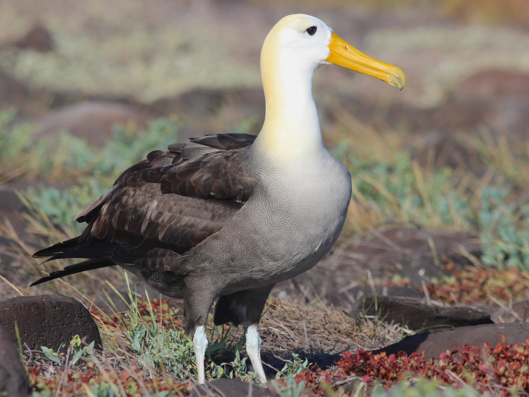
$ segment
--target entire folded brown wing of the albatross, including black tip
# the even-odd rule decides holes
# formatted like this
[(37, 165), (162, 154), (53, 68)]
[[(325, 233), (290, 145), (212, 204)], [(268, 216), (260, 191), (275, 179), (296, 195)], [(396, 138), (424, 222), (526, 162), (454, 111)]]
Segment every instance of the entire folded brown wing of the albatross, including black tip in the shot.
[(76, 217), (88, 223), (77, 240), (35, 256), (134, 263), (160, 257), (153, 250), (183, 254), (220, 230), (249, 197), (256, 181), (240, 159), (254, 139), (220, 134), (151, 152)]

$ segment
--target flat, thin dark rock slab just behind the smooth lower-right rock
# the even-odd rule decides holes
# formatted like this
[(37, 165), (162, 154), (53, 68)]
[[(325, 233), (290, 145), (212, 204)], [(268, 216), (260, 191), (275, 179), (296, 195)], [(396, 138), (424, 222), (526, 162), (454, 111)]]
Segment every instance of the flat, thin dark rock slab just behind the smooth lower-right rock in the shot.
[(360, 317), (380, 314), (384, 321), (405, 324), (409, 329), (418, 330), (427, 327), (446, 328), (494, 324), (490, 314), (471, 308), (452, 306), (440, 308), (395, 296), (367, 295), (357, 301), (354, 315)]

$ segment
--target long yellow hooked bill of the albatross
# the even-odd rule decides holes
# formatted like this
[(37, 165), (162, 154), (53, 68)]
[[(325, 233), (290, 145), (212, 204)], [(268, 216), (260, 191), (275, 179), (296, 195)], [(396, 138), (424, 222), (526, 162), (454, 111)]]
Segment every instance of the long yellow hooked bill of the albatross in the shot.
[(325, 60), (331, 64), (376, 77), (398, 89), (406, 85), (406, 75), (401, 69), (367, 56), (334, 32), (331, 33), (329, 49), (331, 52)]

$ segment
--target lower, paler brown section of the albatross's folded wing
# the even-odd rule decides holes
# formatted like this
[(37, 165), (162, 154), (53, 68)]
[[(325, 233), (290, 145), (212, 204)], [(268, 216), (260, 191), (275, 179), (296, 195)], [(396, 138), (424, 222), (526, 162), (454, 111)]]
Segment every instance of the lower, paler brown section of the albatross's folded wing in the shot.
[(114, 189), (92, 225), (93, 237), (115, 241), (139, 255), (155, 247), (181, 253), (220, 230), (242, 206), (236, 201), (162, 193), (159, 183), (141, 177), (134, 173)]

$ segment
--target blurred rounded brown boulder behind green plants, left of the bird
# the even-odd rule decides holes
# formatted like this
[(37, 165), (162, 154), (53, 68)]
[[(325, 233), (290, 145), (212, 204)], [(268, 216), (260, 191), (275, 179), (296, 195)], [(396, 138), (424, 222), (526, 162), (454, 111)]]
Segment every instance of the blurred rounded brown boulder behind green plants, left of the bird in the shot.
[(66, 106), (50, 112), (37, 122), (40, 136), (54, 136), (68, 131), (93, 146), (103, 146), (110, 140), (114, 125), (126, 126), (131, 123), (136, 129), (147, 128), (147, 118), (133, 106), (99, 101)]

